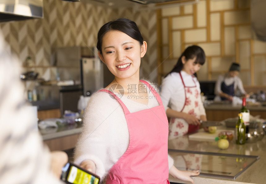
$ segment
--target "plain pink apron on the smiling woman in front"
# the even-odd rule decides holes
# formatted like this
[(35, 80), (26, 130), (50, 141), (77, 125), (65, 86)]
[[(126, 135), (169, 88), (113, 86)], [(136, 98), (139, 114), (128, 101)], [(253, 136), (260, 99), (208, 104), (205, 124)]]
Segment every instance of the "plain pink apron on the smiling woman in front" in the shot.
[(109, 170), (106, 184), (169, 184), (168, 121), (158, 93), (146, 81), (159, 106), (130, 113), (126, 105), (109, 90), (122, 106), (130, 140), (127, 151)]

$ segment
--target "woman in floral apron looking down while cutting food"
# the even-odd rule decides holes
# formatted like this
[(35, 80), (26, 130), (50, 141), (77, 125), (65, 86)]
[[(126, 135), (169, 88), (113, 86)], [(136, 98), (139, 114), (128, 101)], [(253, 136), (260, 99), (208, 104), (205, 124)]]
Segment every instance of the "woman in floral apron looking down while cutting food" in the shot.
[(185, 49), (161, 85), (161, 99), (169, 120), (169, 139), (195, 132), (207, 120), (195, 74), (205, 62), (202, 48)]

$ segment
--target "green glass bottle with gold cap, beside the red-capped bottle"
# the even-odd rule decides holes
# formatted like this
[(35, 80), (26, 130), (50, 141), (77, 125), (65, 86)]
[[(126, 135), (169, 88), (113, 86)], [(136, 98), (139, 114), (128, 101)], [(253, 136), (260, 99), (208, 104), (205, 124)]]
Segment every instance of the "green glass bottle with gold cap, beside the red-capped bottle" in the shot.
[(236, 124), (236, 143), (245, 144), (246, 143), (246, 126), (242, 119), (242, 114), (238, 114), (238, 122)]

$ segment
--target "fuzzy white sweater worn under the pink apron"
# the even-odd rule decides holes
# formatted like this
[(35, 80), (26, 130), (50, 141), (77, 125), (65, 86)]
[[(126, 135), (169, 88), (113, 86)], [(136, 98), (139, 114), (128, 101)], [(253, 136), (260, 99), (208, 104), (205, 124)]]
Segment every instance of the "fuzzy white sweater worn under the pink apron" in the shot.
[[(121, 100), (133, 113), (159, 105), (149, 90), (148, 96), (148, 105), (137, 103), (125, 96)], [(75, 163), (93, 160), (96, 174), (106, 178), (109, 169), (126, 152), (128, 145), (129, 131), (122, 106), (107, 92), (94, 93), (85, 109), (83, 131), (75, 148)], [(174, 161), (169, 156), (168, 160), (170, 168)]]

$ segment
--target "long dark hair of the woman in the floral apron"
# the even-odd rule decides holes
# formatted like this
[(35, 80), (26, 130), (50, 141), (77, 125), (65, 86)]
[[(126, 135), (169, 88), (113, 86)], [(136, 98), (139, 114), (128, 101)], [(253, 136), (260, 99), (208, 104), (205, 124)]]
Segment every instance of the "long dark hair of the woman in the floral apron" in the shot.
[(205, 62), (204, 50), (201, 47), (197, 46), (197, 45), (191, 45), (191, 46), (187, 47), (187, 49), (181, 54), (181, 56), (177, 60), (176, 65), (174, 66), (173, 70), (171, 70), (167, 75), (169, 75), (172, 72), (179, 73), (183, 69), (184, 65), (183, 65), (182, 59), (181, 59), (182, 56), (185, 56), (186, 60), (193, 59), (193, 58), (196, 57), (196, 60), (195, 60), (196, 64), (203, 65), (204, 62)]

